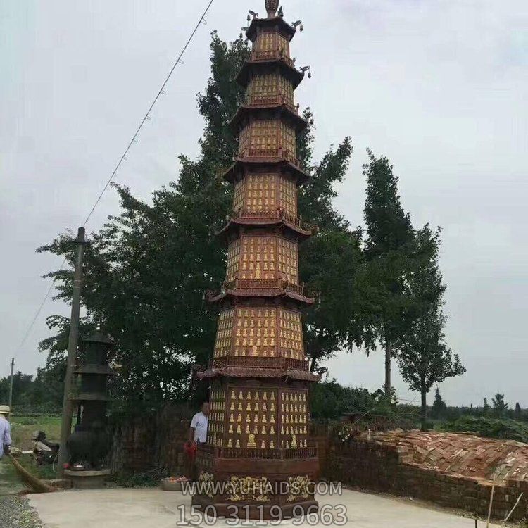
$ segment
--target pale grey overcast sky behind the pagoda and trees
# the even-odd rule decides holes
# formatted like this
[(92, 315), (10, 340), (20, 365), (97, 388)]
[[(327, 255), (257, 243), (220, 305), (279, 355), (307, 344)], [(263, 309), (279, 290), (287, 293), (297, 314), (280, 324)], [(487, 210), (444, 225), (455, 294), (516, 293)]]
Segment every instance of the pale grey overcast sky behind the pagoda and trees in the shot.
[[(247, 8), (215, 0), (118, 182), (148, 198), (196, 156), (196, 92), (209, 75), (209, 33), (234, 39)], [(208, 0), (0, 0), (0, 376), (61, 260), (35, 253), (82, 225)], [(262, 4), (262, 5), (261, 5)], [(505, 393), (528, 407), (527, 67), (524, 0), (284, 0), (302, 18), (292, 55), (313, 78), (296, 92), (316, 120), (318, 157), (345, 135), (354, 152), (337, 206), (363, 221), (367, 146), (391, 159), (417, 227), (443, 228), (447, 337), (467, 367), (441, 391), (449, 404)], [(109, 190), (87, 230), (118, 201)], [(34, 372), (47, 301), (16, 368)], [(213, 348), (213, 343), (211, 343)], [(377, 389), (381, 353), (341, 354), (343, 384)], [(396, 365), (394, 366), (396, 370)], [(417, 394), (395, 379), (401, 398)]]

